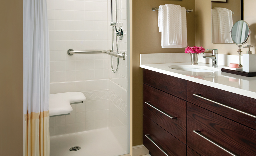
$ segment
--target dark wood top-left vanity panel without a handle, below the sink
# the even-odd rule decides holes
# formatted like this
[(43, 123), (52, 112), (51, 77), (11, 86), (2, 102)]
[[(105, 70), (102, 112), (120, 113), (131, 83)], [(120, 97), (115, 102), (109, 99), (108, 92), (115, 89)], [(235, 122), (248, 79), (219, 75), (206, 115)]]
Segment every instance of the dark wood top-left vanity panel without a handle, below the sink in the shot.
[(184, 100), (187, 99), (187, 80), (144, 69), (144, 83)]

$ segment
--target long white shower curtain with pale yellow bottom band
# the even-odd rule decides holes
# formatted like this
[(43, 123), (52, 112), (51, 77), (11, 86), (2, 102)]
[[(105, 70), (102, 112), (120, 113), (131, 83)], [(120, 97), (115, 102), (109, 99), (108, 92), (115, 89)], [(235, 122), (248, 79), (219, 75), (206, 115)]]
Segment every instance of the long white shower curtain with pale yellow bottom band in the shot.
[(24, 156), (50, 155), (49, 74), (46, 0), (23, 0)]

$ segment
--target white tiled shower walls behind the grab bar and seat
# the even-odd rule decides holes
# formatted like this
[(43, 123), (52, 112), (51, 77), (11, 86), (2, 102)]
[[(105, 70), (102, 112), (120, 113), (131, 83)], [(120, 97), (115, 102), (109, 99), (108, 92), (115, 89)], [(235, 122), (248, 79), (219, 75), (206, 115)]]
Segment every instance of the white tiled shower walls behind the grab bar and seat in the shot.
[[(109, 0), (47, 0), (50, 38), (50, 94), (79, 91), (86, 96), (70, 115), (50, 117), (50, 136), (109, 127), (127, 148), (127, 59), (111, 70), (106, 54), (67, 55), (68, 49), (110, 49)], [(126, 0), (118, 1), (119, 52), (127, 53)], [(113, 1), (115, 21), (115, 1)], [(114, 38), (114, 51), (116, 51)], [(113, 58), (116, 68), (116, 58)]]

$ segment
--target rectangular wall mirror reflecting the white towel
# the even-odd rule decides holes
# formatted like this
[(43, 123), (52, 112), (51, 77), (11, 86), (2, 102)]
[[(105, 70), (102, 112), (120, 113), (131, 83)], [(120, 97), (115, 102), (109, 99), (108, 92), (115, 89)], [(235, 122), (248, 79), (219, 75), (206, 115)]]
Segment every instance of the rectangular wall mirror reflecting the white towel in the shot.
[(211, 42), (233, 43), (230, 36), (236, 21), (243, 20), (243, 0), (211, 2)]

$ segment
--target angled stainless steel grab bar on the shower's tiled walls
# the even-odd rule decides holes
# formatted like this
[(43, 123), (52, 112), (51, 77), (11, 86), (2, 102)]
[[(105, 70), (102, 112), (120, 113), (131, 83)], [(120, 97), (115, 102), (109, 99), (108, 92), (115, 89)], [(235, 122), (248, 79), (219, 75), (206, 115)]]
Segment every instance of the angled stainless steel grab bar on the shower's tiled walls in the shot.
[(101, 54), (101, 53), (105, 53), (117, 58), (123, 58), (123, 60), (125, 60), (125, 52), (123, 52), (122, 54), (118, 54), (118, 53), (114, 53), (111, 52), (109, 50), (73, 50), (73, 49), (69, 49), (68, 50), (68, 55), (73, 55), (73, 54)]

